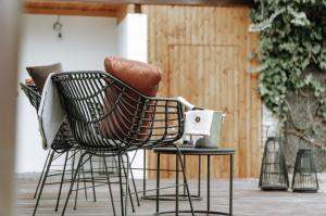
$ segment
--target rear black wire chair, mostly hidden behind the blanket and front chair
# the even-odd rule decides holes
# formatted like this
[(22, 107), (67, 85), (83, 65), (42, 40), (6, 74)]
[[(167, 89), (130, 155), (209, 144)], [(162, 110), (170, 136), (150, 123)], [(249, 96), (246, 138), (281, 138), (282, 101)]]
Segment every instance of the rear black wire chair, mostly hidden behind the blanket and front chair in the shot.
[[(37, 111), (38, 107), (39, 107), (39, 104), (40, 104), (40, 99), (41, 99), (41, 96), (39, 93), (38, 88), (36, 86), (26, 86), (24, 84), (20, 84), (20, 85), (21, 85), (21, 88), (24, 91), (24, 93), (27, 96), (30, 104)], [(80, 155), (82, 155), (82, 151), (77, 147), (76, 141), (75, 141), (73, 135), (71, 134), (70, 126), (65, 122), (61, 126), (61, 128), (60, 128), (60, 130), (59, 130), (59, 132), (58, 132), (58, 135), (57, 135), (57, 137), (54, 139), (54, 142), (51, 145), (51, 149), (50, 149), (50, 151), (49, 151), (49, 153), (47, 155), (45, 165), (42, 167), (42, 171), (41, 171), (41, 175), (39, 177), (39, 180), (38, 180), (38, 183), (37, 183), (37, 187), (36, 187), (36, 191), (34, 193), (34, 199), (37, 196), (37, 201), (36, 201), (36, 205), (35, 205), (33, 215), (36, 214), (36, 211), (37, 211), (40, 198), (41, 198), (41, 193), (42, 193), (43, 187), (46, 185), (55, 185), (55, 183), (60, 185), (59, 194), (58, 194), (57, 204), (55, 204), (55, 212), (58, 211), (59, 203), (60, 203), (61, 191), (62, 191), (62, 186), (63, 186), (63, 183), (71, 182), (71, 180), (73, 179), (73, 174), (74, 174), (74, 168), (75, 168), (74, 167), (75, 166), (75, 155), (77, 153), (80, 153)], [(68, 154), (71, 154), (71, 155), (68, 156)], [(63, 169), (62, 170), (55, 170), (55, 171), (53, 171), (54, 174), (53, 173), (50, 174), (50, 168), (51, 168), (52, 163), (57, 158), (60, 158), (61, 156), (64, 156)], [(71, 168), (71, 170), (66, 170), (67, 162), (68, 161), (72, 161), (72, 168)], [(89, 188), (89, 187), (86, 186), (86, 182), (90, 182), (92, 185), (91, 188), (92, 188), (93, 201), (96, 202), (96, 200), (97, 200), (96, 199), (96, 190), (95, 190), (95, 188), (96, 188), (96, 182), (98, 180), (93, 178), (93, 167), (92, 167), (92, 161), (91, 161), (91, 158), (89, 158), (88, 161), (89, 161), (89, 165), (90, 165), (90, 176), (91, 176), (91, 178), (90, 178), (90, 180), (88, 180), (87, 178), (85, 178), (85, 170), (84, 170), (84, 167), (82, 167), (82, 175), (83, 175), (83, 177), (80, 178), (79, 177), (80, 174), (78, 173), (77, 189), (75, 190), (76, 194), (75, 194), (74, 209), (76, 209), (77, 198), (78, 198), (78, 191), (79, 190), (85, 190), (85, 198), (87, 200), (87, 188)], [(122, 164), (124, 162), (122, 162)], [(105, 175), (106, 175), (105, 179), (109, 179), (109, 171), (108, 171), (106, 162), (104, 162), (104, 165), (105, 165)], [(114, 166), (112, 168), (117, 168), (117, 167)], [(65, 180), (64, 176), (67, 175), (68, 173), (71, 173), (72, 177), (68, 180)], [(51, 177), (51, 176), (52, 177), (53, 176), (61, 176), (61, 181), (60, 182), (50, 182), (50, 183), (48, 183), (47, 182), (47, 178)], [(80, 188), (79, 185), (78, 185), (79, 182), (84, 182), (84, 187)], [(134, 177), (133, 177), (133, 182), (134, 182), (134, 190), (135, 190), (136, 198), (137, 198), (137, 203), (138, 203), (138, 206), (139, 206), (139, 199), (138, 199), (138, 195), (137, 195), (137, 190), (136, 190), (136, 185), (135, 185)], [(110, 193), (112, 194), (111, 185), (110, 185), (109, 189), (110, 189)], [(131, 200), (131, 196), (130, 196), (130, 203), (133, 205), (133, 212), (135, 212), (134, 202)]]

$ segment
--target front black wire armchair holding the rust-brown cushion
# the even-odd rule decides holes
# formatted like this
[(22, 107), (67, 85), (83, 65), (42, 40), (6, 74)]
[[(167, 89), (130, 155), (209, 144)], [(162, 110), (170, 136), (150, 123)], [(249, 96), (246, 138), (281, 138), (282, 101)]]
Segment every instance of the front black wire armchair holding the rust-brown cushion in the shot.
[[(184, 134), (184, 111), (174, 99), (150, 98), (127, 84), (103, 72), (68, 72), (54, 75), (62, 105), (66, 111), (72, 132), (85, 153), (77, 169), (88, 155), (102, 157), (116, 155), (127, 160), (126, 181), (122, 181), (118, 168), (122, 215), (127, 215), (129, 156), (127, 152), (150, 147), (173, 144)], [(100, 106), (100, 109), (95, 109)], [(99, 111), (91, 115), (92, 111)], [(181, 169), (183, 161), (178, 154)], [(121, 160), (117, 160), (118, 167)], [(77, 171), (76, 171), (77, 173)], [(64, 215), (76, 179), (71, 185), (62, 212)], [(185, 173), (184, 177), (186, 179)], [(187, 181), (185, 182), (187, 185)], [(109, 183), (110, 185), (110, 183)], [(125, 192), (123, 189), (125, 185)], [(188, 199), (192, 209), (189, 194)], [(113, 202), (113, 200), (112, 200)], [(193, 213), (192, 213), (193, 215)]]

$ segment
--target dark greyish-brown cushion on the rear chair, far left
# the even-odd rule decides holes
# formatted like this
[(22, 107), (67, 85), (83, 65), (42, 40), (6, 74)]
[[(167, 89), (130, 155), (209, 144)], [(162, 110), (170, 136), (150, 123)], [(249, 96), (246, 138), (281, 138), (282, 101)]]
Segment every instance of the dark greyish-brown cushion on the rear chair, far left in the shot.
[(26, 69), (36, 86), (42, 91), (49, 74), (62, 72), (62, 66), (61, 63), (55, 63), (42, 66), (30, 66), (26, 67)]

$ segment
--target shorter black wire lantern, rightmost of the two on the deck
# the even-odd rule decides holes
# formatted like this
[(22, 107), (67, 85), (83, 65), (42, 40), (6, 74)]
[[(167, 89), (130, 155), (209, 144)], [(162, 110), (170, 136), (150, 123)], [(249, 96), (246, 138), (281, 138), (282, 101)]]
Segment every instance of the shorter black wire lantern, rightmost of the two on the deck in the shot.
[(297, 153), (292, 190), (293, 192), (316, 192), (318, 190), (317, 170), (310, 149), (300, 149)]

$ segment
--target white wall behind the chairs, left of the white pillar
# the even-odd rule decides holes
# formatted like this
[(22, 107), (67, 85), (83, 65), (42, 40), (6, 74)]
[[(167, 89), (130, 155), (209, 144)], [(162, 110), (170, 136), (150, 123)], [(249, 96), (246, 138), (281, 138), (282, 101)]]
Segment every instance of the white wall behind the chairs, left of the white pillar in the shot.
[[(62, 40), (52, 29), (55, 21), (53, 15), (23, 15), (20, 81), (28, 76), (26, 66), (61, 62), (64, 71), (103, 71), (104, 56), (117, 54), (115, 18), (61, 16)], [(16, 171), (40, 171), (47, 152), (41, 149), (36, 112), (17, 92)]]

